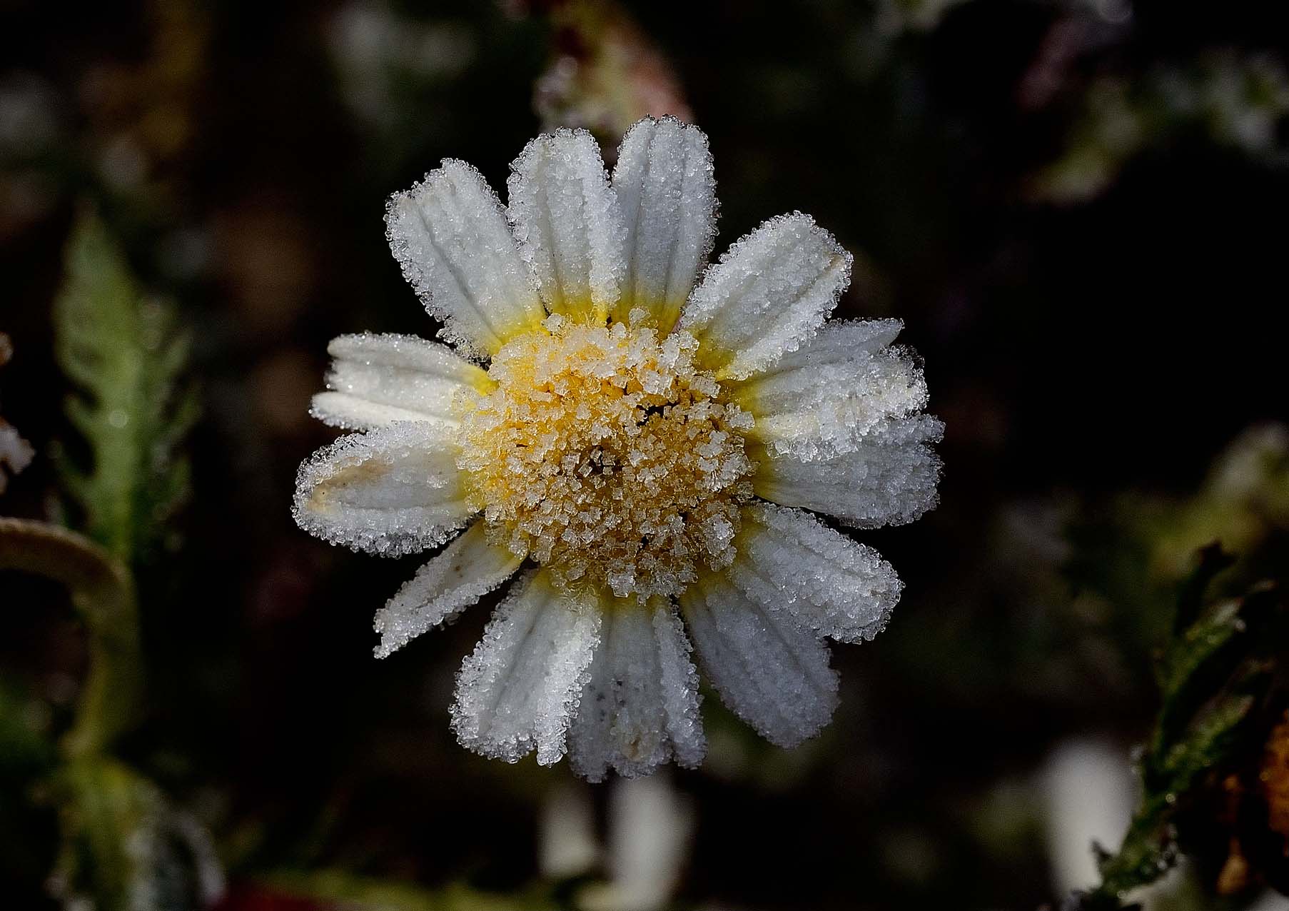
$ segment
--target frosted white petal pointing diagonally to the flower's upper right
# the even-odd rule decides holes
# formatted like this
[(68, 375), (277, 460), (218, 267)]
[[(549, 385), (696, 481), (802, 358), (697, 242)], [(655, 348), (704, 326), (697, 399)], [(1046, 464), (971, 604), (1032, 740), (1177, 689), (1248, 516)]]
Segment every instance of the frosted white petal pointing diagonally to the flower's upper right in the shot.
[(745, 379), (815, 334), (846, 290), (851, 262), (809, 215), (772, 218), (708, 271), (681, 325), (718, 376)]

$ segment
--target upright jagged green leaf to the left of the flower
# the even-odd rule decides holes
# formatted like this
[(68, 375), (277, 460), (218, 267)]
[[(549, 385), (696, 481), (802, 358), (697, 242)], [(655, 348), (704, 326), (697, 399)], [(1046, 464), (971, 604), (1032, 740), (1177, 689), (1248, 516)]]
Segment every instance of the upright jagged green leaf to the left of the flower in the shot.
[(188, 495), (178, 445), (197, 417), (180, 390), (188, 336), (174, 311), (146, 300), (103, 223), (82, 213), (54, 302), (58, 363), (79, 387), (67, 417), (85, 438), (88, 470), (67, 466), (64, 487), (85, 509), (86, 531), (130, 563), (153, 557), (164, 524)]

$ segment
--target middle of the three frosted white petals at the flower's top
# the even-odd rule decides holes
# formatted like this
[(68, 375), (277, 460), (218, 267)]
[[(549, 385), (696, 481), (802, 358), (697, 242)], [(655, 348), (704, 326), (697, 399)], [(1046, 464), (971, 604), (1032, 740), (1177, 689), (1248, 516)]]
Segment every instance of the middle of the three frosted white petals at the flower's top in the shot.
[(552, 313), (602, 323), (623, 281), (623, 218), (585, 130), (530, 142), (510, 165), (510, 219)]

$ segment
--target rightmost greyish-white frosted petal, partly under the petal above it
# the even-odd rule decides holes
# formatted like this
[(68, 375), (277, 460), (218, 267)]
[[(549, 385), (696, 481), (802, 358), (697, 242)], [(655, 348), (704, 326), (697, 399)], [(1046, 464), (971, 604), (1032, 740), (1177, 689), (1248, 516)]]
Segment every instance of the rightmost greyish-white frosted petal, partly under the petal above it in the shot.
[(874, 428), (851, 452), (813, 461), (754, 452), (757, 495), (784, 506), (835, 515), (857, 528), (904, 524), (936, 505), (938, 442), (945, 425), (931, 415)]

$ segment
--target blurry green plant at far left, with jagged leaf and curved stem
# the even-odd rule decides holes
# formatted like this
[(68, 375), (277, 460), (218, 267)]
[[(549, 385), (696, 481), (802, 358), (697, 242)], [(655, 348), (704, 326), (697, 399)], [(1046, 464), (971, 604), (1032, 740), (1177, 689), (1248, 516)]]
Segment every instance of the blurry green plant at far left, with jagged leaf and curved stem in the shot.
[(63, 478), (89, 535), (0, 518), (0, 570), (45, 576), (67, 589), (85, 628), (89, 670), (57, 751), (19, 723), (10, 700), (0, 701), (0, 733), (26, 742), (31, 762), (23, 768), (46, 783), (57, 804), (62, 845), (50, 877), (57, 896), (103, 911), (204, 907), (222, 889), (204, 830), (113, 755), (143, 705), (131, 567), (157, 553), (188, 488), (178, 446), (197, 405), (191, 390), (177, 394), (188, 343), (170, 308), (144, 300), (95, 215), (77, 219), (66, 268), (54, 307), (55, 344), (80, 389), (68, 398), (67, 415), (84, 436), (89, 468), (68, 463)]

